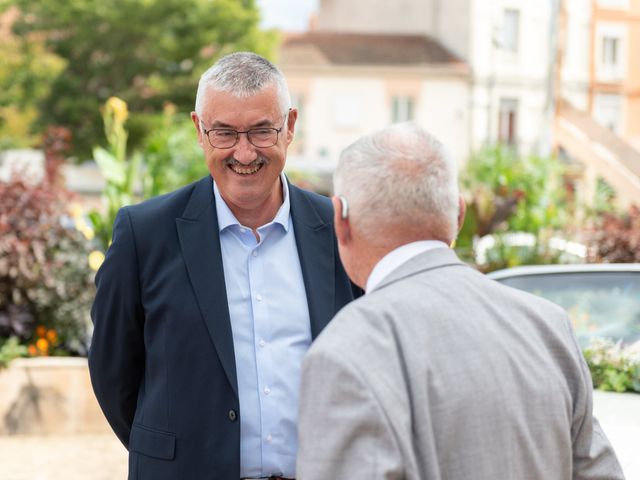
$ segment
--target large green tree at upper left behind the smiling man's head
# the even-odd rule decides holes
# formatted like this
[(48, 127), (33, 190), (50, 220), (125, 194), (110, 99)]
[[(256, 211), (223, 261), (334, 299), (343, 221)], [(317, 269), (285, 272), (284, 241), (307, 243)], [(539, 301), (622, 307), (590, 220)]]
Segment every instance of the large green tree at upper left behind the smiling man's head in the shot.
[[(82, 154), (100, 143), (99, 106), (111, 96), (158, 113), (193, 109), (199, 75), (235, 50), (270, 55), (254, 0), (0, 0), (23, 15), (18, 35), (42, 32), (66, 61), (42, 102), (43, 122), (69, 127)], [(2, 3), (0, 3), (2, 5)]]

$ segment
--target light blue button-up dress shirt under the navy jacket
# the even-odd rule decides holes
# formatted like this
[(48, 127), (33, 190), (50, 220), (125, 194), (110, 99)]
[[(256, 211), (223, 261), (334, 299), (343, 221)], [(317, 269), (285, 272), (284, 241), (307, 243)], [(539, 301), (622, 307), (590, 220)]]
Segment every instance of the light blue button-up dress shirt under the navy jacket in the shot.
[(295, 477), (298, 389), (311, 325), (302, 269), (284, 202), (256, 240), (213, 184), (240, 397), (240, 476)]

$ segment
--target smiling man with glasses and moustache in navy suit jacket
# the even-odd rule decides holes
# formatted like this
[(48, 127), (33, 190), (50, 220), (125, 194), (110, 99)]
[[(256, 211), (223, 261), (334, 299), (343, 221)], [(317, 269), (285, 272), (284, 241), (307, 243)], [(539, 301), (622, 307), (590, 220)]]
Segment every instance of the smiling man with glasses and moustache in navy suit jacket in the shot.
[(122, 208), (96, 278), (91, 380), (129, 478), (292, 478), (303, 355), (353, 299), (329, 199), (282, 173), (298, 112), (253, 53), (201, 77), (211, 176)]

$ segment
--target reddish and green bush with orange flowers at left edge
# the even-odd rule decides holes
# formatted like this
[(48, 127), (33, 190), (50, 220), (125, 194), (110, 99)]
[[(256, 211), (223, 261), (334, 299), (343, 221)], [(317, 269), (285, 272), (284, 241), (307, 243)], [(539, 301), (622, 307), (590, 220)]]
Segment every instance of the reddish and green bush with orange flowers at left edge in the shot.
[[(34, 355), (84, 354), (93, 298), (90, 244), (50, 184), (0, 182), (0, 338)], [(10, 345), (10, 344), (9, 344)]]

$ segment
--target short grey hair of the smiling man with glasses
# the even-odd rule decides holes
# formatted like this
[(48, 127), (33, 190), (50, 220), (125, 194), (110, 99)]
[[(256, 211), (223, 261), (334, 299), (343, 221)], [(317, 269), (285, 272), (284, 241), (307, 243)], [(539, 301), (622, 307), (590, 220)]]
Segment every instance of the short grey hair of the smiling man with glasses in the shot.
[(282, 72), (269, 60), (252, 52), (235, 52), (214, 63), (200, 77), (195, 110), (202, 117), (207, 89), (229, 92), (236, 97), (250, 97), (266, 87), (275, 85), (278, 102), (284, 115), (291, 106), (287, 81)]

